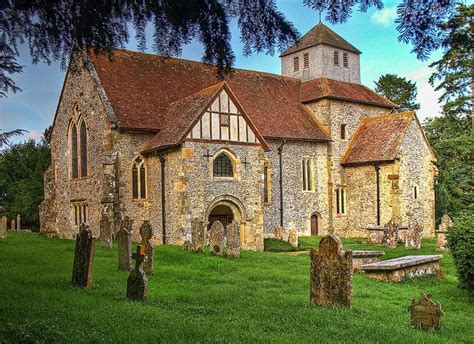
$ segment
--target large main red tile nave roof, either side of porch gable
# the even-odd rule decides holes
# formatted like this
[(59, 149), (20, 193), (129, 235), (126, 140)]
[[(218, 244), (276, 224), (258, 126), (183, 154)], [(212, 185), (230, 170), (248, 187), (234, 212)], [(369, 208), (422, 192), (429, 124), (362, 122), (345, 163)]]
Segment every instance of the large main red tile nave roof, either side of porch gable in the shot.
[[(126, 50), (90, 53), (119, 128), (164, 128), (170, 104), (222, 80), (214, 66)], [(266, 138), (328, 140), (325, 130), (299, 101), (298, 79), (235, 69), (225, 81)]]

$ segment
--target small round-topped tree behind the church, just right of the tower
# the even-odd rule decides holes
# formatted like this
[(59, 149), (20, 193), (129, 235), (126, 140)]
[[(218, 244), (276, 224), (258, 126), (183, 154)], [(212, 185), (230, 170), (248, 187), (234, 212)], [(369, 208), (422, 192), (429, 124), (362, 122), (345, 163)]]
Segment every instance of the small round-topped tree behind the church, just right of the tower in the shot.
[(375, 91), (390, 99), (403, 109), (418, 110), (420, 104), (416, 102), (418, 93), (416, 82), (401, 78), (395, 74), (380, 76), (375, 82)]

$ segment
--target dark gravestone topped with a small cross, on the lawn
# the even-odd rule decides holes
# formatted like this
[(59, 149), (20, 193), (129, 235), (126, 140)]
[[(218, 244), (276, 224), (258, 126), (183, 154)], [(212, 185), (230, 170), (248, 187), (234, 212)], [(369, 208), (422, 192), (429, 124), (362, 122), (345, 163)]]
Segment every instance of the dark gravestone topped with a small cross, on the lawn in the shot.
[(137, 252), (133, 253), (135, 269), (130, 272), (127, 280), (127, 299), (143, 301), (146, 299), (148, 289), (148, 278), (143, 270), (143, 262), (146, 261), (145, 246), (138, 245)]

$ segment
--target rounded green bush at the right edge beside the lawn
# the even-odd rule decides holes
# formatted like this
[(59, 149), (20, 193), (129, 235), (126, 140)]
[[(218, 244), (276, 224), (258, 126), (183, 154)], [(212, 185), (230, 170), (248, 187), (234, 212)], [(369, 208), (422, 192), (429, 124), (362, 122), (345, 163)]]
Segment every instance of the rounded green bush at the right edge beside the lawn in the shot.
[(474, 215), (462, 214), (448, 231), (448, 247), (453, 255), (460, 287), (474, 291)]

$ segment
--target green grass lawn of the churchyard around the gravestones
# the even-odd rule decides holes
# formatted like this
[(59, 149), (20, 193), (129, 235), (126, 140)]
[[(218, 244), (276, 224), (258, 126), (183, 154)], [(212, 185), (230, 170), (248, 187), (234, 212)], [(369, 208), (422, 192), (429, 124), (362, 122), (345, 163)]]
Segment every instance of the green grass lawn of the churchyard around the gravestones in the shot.
[[(318, 238), (301, 238), (302, 247)], [(345, 249), (373, 248), (363, 239)], [(271, 241), (268, 242), (271, 246)], [(434, 240), (420, 251), (387, 249), (385, 258), (435, 254)], [(353, 308), (309, 305), (309, 257), (242, 252), (239, 260), (156, 248), (148, 299), (125, 298), (128, 273), (117, 268), (117, 246), (96, 245), (93, 287), (71, 287), (74, 241), (32, 233), (0, 239), (0, 342), (313, 342), (473, 343), (474, 303), (457, 288), (451, 256), (443, 280), (403, 283), (353, 279)], [(407, 307), (420, 291), (445, 311), (439, 332), (409, 327)]]

